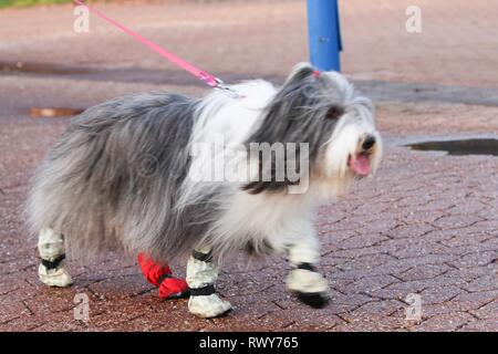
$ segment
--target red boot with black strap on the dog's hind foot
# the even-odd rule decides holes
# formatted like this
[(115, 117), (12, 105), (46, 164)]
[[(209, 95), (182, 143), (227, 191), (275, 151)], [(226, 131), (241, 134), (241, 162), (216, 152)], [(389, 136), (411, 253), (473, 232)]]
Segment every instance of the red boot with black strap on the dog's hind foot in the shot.
[(169, 266), (160, 267), (144, 253), (138, 254), (138, 264), (145, 279), (151, 284), (159, 287), (160, 299), (178, 299), (189, 295), (187, 282), (173, 277)]

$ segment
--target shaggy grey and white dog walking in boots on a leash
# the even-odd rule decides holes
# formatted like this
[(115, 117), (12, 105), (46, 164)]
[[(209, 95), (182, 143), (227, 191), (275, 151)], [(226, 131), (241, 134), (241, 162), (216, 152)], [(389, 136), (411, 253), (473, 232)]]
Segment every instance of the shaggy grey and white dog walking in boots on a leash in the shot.
[[(309, 64), (297, 65), (281, 87), (257, 80), (230, 90), (238, 97), (125, 96), (73, 118), (38, 169), (28, 202), (44, 283), (72, 283), (66, 251), (145, 252), (157, 262), (189, 253), (188, 308), (212, 317), (230, 309), (214, 289), (220, 260), (250, 249), (287, 254), (289, 290), (325, 304), (314, 211), (376, 169), (382, 142), (372, 104), (341, 74)], [(217, 153), (199, 154), (219, 139)], [(261, 148), (279, 144), (297, 147), (280, 156), (280, 167), (278, 154), (266, 159)], [(240, 157), (255, 146), (257, 154)], [(206, 178), (220, 162), (246, 173)], [(298, 178), (283, 168), (278, 179), (281, 166), (293, 166)]]

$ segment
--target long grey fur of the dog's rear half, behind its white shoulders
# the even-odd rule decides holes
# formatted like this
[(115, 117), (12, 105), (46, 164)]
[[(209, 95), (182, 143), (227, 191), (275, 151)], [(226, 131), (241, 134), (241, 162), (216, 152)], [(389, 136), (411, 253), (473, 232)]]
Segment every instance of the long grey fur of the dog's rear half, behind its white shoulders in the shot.
[[(33, 177), (30, 230), (51, 228), (64, 235), (70, 254), (85, 258), (125, 250), (162, 261), (190, 251), (205, 225), (193, 212), (178, 217), (175, 204), (196, 106), (183, 96), (147, 94), (76, 116)], [(186, 227), (190, 219), (197, 222)]]

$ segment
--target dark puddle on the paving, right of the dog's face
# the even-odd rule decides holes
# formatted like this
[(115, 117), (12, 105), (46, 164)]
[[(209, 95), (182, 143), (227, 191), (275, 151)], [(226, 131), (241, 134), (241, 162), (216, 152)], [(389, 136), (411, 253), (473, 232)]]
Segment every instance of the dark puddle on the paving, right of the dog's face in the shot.
[(498, 156), (498, 139), (471, 138), (455, 140), (434, 140), (406, 145), (414, 150), (446, 152), (448, 155), (492, 155)]

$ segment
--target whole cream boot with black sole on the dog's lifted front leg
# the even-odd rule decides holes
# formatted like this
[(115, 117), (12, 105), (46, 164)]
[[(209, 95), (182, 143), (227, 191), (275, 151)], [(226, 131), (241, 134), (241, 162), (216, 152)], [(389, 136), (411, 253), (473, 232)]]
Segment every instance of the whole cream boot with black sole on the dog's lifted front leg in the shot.
[(329, 285), (317, 271), (319, 260), (318, 241), (301, 239), (288, 246), (289, 261), (294, 268), (287, 278), (287, 288), (303, 303), (321, 309), (328, 302)]

